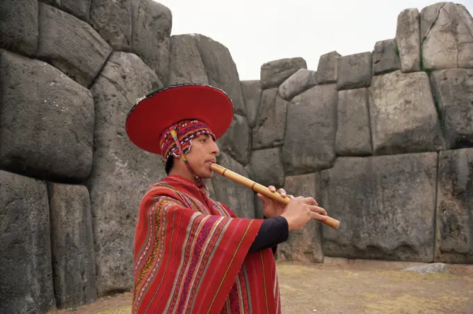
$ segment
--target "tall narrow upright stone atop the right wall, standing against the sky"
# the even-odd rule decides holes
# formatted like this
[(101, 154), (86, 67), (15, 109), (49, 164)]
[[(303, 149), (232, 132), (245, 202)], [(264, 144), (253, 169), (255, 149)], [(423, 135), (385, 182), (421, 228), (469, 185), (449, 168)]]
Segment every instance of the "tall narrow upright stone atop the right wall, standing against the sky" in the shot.
[(401, 72), (420, 71), (420, 24), (417, 8), (408, 8), (399, 13), (396, 26), (396, 44), (401, 59)]

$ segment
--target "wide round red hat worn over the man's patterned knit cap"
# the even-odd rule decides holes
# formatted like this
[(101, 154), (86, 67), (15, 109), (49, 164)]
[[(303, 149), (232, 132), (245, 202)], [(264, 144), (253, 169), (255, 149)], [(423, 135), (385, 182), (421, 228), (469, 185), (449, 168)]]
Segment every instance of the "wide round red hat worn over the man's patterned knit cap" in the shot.
[(161, 135), (171, 125), (198, 120), (218, 139), (230, 127), (233, 113), (232, 100), (221, 89), (205, 84), (179, 84), (138, 100), (128, 113), (125, 129), (136, 146), (162, 155)]

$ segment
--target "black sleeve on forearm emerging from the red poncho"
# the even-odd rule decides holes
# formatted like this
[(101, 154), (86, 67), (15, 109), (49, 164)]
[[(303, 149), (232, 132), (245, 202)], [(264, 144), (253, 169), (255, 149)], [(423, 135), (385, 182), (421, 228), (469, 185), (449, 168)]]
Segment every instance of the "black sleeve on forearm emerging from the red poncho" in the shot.
[(264, 219), (255, 241), (250, 246), (250, 252), (273, 248), (287, 241), (287, 237), (289, 237), (289, 227), (284, 217), (277, 216)]

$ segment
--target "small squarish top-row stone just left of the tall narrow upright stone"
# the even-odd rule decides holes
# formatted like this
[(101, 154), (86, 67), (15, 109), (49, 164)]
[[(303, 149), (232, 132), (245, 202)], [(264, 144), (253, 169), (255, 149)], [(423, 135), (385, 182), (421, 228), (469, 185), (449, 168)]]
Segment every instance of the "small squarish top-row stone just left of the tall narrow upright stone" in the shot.
[(374, 75), (401, 70), (401, 60), (399, 59), (399, 50), (395, 39), (376, 42), (372, 58)]

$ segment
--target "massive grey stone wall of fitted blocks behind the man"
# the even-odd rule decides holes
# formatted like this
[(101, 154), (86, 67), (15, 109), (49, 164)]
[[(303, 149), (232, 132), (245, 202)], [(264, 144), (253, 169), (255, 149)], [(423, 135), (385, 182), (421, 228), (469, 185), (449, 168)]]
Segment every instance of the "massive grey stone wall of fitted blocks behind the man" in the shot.
[[(129, 290), (136, 210), (163, 178), (125, 133), (132, 104), (170, 84), (223, 88), (235, 118), (218, 162), (315, 196), (279, 260), (325, 256), (473, 262), (473, 19), (454, 3), (403, 10), (395, 38), (349, 56), (262, 65), (240, 81), (230, 51), (170, 36), (151, 0), (0, 2), (0, 312), (45, 313)], [(218, 175), (241, 217), (259, 199)]]

